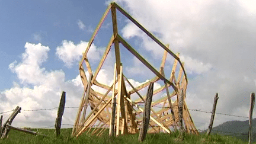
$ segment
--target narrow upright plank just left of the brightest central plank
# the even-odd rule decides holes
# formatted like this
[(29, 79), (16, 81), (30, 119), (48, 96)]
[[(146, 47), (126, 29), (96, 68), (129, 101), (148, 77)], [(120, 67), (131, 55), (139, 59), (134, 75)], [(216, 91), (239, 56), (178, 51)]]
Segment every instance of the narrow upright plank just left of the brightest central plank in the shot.
[[(113, 82), (116, 82), (116, 63), (114, 64)], [(115, 121), (115, 117), (116, 117), (116, 98), (114, 98), (115, 91), (116, 91), (116, 83), (114, 83), (113, 90), (112, 90), (112, 100), (113, 101), (111, 103), (112, 113), (110, 114), (110, 119), (111, 119), (111, 121), (110, 121), (110, 131), (109, 131), (110, 136), (114, 136), (114, 121)]]

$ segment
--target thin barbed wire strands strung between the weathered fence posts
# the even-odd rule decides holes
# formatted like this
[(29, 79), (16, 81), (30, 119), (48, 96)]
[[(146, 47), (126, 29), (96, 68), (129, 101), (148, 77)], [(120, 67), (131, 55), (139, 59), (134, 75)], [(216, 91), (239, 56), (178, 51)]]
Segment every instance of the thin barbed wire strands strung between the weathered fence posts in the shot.
[[(140, 105), (140, 106), (143, 106), (143, 105)], [(158, 108), (170, 108), (170, 107), (159, 107), (157, 105), (153, 105), (152, 107), (158, 107)], [(51, 110), (55, 110), (59, 107), (53, 107), (53, 108), (40, 108), (40, 109), (34, 109), (34, 110), (21, 110), (21, 111), (51, 111)], [(79, 108), (79, 107), (65, 107), (65, 108)], [(208, 113), (208, 114), (211, 114), (212, 111), (204, 111), (204, 110), (197, 110), (197, 109), (188, 109), (190, 111), (196, 111), (196, 112), (200, 112), (200, 113)], [(14, 111), (13, 110), (9, 110), (9, 111), (4, 111), (4, 112), (1, 112), (0, 114), (6, 114), (3, 119), (11, 116), (11, 112)], [(245, 117), (245, 116), (238, 116), (238, 115), (234, 115), (234, 114), (225, 114), (225, 113), (215, 113), (215, 114), (220, 114), (220, 115), (224, 115), (224, 116), (232, 116), (232, 117), (240, 117), (240, 118), (249, 118), (249, 117)], [(201, 123), (201, 122), (197, 122), (197, 121), (194, 121), (194, 123), (199, 123), (199, 124), (207, 124), (207, 123)], [(73, 124), (62, 124), (62, 126), (74, 126)], [(93, 126), (91, 127), (98, 127), (98, 126), (103, 126), (103, 124), (94, 124)], [(46, 126), (46, 127), (37, 127), (36, 129), (49, 129), (49, 128), (53, 128), (55, 127), (54, 125), (52, 126)], [(158, 126), (149, 126), (149, 127), (158, 127)], [(199, 132), (205, 132), (206, 130), (200, 130), (200, 129), (197, 129)], [(231, 135), (229, 136), (237, 136), (237, 135), (242, 135), (241, 133), (234, 133), (234, 132), (223, 132), (223, 131), (220, 131), (220, 130), (215, 130), (215, 129), (212, 129), (213, 131), (217, 132), (217, 133), (230, 133)]]

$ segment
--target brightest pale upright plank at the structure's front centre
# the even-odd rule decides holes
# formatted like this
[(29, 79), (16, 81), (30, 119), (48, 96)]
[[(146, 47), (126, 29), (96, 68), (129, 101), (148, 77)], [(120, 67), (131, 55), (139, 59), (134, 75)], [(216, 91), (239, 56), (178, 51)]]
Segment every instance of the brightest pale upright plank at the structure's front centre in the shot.
[[(117, 65), (118, 67), (118, 65)], [(120, 64), (120, 73), (118, 75), (118, 88), (117, 88), (117, 129), (116, 129), (116, 136), (119, 136), (119, 124), (120, 124), (120, 108), (121, 108), (121, 87), (122, 87), (122, 71), (123, 66)]]

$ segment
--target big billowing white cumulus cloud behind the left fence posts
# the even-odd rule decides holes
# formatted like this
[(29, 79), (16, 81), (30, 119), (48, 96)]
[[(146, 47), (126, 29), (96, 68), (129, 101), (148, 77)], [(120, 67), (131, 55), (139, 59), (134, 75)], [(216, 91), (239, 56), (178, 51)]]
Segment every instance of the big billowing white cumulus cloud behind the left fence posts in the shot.
[[(17, 74), (21, 83), (14, 82), (14, 87), (0, 92), (0, 111), (22, 108), (15, 118), (14, 126), (45, 127), (54, 125), (56, 108), (50, 111), (26, 111), (58, 107), (62, 91), (66, 91), (66, 106), (77, 107), (83, 92), (80, 76), (65, 81), (62, 70), (46, 71), (41, 64), (46, 62), (50, 48), (42, 44), (25, 44), (21, 62), (9, 65)], [(27, 85), (28, 84), (28, 85)], [(76, 116), (76, 108), (66, 108), (63, 123), (71, 124)], [(8, 118), (8, 113), (4, 115)]]

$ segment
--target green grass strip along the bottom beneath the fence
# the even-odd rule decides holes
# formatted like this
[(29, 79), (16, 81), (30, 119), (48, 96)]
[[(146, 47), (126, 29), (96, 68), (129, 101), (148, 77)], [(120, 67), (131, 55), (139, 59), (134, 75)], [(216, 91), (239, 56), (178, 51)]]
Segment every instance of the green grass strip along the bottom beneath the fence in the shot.
[(136, 135), (125, 135), (119, 137), (109, 137), (108, 132), (105, 132), (102, 136), (87, 136), (81, 135), (77, 138), (71, 137), (72, 129), (61, 129), (59, 137), (55, 136), (54, 129), (33, 129), (34, 131), (46, 135), (33, 136), (16, 130), (11, 130), (7, 139), (0, 139), (0, 143), (34, 143), (34, 144), (50, 144), (50, 143), (152, 143), (152, 144), (165, 144), (165, 143), (248, 143), (241, 140), (234, 139), (233, 137), (222, 135), (184, 135), (184, 139), (181, 140), (178, 132), (172, 132), (171, 135), (167, 133), (148, 134), (143, 142), (138, 142)]

